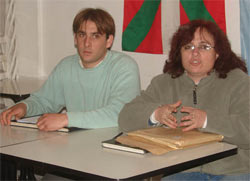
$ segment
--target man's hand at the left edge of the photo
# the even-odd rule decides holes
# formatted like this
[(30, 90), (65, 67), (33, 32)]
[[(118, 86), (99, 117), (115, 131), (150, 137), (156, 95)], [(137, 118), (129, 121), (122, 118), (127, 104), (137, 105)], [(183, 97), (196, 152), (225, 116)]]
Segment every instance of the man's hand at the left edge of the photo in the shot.
[(24, 103), (16, 104), (0, 114), (1, 125), (10, 125), (12, 117), (16, 120), (25, 116), (27, 107)]

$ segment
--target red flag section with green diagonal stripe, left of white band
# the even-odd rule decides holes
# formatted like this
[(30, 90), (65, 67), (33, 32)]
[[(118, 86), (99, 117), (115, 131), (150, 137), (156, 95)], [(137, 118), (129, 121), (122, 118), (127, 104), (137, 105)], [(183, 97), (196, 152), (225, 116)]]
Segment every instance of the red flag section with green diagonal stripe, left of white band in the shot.
[(122, 49), (162, 54), (161, 1), (124, 0)]

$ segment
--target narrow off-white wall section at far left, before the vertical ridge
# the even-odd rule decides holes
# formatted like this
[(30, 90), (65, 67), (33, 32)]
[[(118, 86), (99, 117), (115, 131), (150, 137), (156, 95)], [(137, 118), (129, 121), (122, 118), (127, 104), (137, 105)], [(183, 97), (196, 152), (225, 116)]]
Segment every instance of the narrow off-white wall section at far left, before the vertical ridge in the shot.
[(29, 77), (40, 76), (38, 73), (38, 14), (37, 1), (16, 1), (16, 42), (18, 73)]

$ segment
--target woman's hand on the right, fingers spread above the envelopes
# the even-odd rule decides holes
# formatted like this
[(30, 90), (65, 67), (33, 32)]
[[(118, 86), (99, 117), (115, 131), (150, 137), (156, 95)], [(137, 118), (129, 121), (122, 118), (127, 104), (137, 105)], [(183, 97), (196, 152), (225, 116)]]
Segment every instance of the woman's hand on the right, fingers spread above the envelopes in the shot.
[(181, 108), (181, 112), (189, 113), (187, 116), (181, 118), (182, 121), (180, 126), (185, 126), (186, 128), (182, 129), (183, 131), (190, 131), (195, 128), (202, 128), (207, 117), (207, 113), (201, 109), (193, 107)]

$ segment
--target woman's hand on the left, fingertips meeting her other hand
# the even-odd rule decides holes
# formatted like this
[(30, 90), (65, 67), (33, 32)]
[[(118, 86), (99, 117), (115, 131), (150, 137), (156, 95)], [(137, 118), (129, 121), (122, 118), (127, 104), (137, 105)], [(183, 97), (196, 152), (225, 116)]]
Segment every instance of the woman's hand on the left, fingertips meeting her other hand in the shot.
[(158, 107), (155, 110), (155, 119), (162, 124), (169, 126), (170, 128), (177, 128), (177, 120), (172, 115), (173, 112), (177, 112), (177, 108), (181, 105), (181, 101), (177, 101), (174, 104), (167, 104)]

